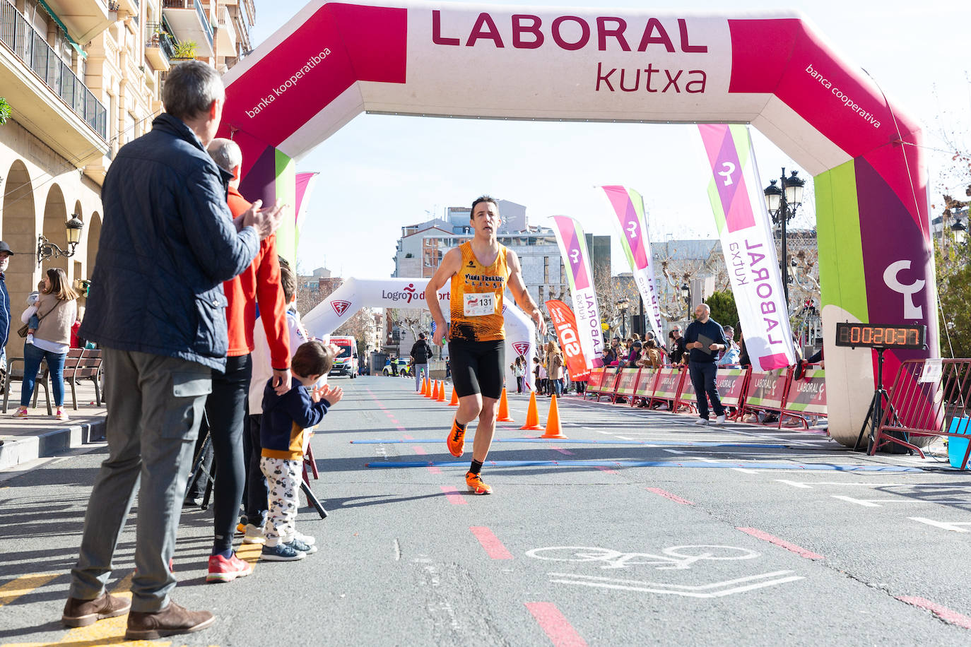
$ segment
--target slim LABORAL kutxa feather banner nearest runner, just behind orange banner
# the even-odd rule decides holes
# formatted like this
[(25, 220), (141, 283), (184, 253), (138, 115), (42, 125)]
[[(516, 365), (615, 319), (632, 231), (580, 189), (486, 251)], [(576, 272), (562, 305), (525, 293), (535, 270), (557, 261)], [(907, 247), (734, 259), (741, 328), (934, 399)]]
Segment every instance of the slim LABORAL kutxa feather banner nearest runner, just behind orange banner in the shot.
[(600, 332), (600, 311), (593, 289), (593, 273), (590, 270), (590, 256), (586, 252), (584, 230), (579, 222), (569, 216), (554, 215), (552, 219), (563, 266), (569, 269), (566, 277), (570, 281), (570, 296), (586, 368), (595, 369), (603, 366), (604, 339)]

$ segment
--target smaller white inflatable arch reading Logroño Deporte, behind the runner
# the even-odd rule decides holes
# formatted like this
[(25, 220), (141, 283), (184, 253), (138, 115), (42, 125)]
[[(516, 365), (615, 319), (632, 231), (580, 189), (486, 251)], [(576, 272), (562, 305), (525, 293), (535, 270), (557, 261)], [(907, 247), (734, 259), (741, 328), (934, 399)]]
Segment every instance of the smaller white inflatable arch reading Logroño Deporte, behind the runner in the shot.
[[(303, 324), (317, 338), (330, 335), (362, 307), (419, 307), (427, 309), (427, 278), (349, 278), (326, 300), (304, 315)], [(451, 312), (451, 285), (438, 292), (438, 302), (446, 320)], [(529, 360), (536, 349), (536, 325), (512, 300), (503, 299), (506, 321), (506, 384), (516, 384), (509, 365), (517, 355)], [(402, 351), (402, 355), (408, 349)], [(530, 362), (530, 366), (532, 363)]]

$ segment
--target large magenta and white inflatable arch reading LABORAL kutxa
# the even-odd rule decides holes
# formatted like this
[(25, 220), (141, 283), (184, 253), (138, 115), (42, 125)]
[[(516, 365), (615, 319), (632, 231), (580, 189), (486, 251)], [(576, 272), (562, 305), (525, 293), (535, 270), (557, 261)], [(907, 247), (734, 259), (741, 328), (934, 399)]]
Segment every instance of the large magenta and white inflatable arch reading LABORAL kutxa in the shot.
[[(312, 2), (225, 77), (242, 191), (292, 205), (294, 160), (362, 112), (751, 123), (815, 178), (829, 432), (853, 444), (873, 395), (840, 321), (925, 324), (938, 356), (916, 120), (794, 12)], [(292, 224), (282, 248), (296, 248)]]

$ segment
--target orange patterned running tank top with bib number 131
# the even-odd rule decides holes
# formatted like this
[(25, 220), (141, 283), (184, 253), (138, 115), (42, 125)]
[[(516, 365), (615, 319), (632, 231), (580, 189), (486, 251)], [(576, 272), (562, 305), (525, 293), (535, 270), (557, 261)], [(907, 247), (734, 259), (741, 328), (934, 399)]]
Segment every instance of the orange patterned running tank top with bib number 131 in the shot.
[(449, 340), (494, 341), (506, 339), (503, 328), (502, 297), (509, 280), (506, 247), (499, 245), (492, 265), (485, 266), (472, 251), (472, 243), (462, 243), (462, 267), (452, 275), (452, 329)]

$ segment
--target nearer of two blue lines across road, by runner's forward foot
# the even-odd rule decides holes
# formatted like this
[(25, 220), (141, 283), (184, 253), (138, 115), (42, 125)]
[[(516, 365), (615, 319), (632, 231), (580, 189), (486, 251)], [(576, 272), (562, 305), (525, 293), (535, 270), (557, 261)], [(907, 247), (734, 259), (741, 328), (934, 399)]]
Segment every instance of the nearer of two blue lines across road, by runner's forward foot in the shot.
[[(406, 461), (367, 463), (367, 468), (466, 468), (468, 461)], [(909, 471), (920, 468), (897, 465), (833, 465), (829, 463), (678, 463), (676, 461), (489, 461), (496, 468), (727, 468), (799, 469), (803, 471)]]

